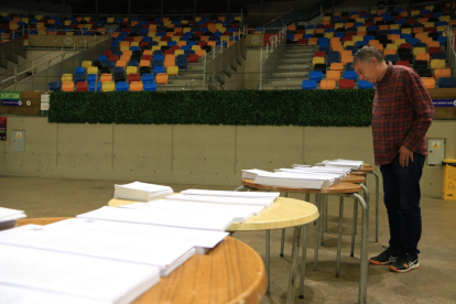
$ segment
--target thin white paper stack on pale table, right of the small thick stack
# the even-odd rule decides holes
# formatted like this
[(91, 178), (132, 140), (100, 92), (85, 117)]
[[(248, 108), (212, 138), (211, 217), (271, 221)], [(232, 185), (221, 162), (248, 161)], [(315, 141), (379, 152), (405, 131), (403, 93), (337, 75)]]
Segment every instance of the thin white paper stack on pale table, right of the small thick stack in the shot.
[(224, 196), (205, 196), (205, 195), (186, 195), (175, 194), (166, 196), (166, 199), (187, 200), (209, 204), (229, 204), (229, 205), (250, 205), (270, 207), (275, 198), (247, 198), (247, 197), (224, 197)]

